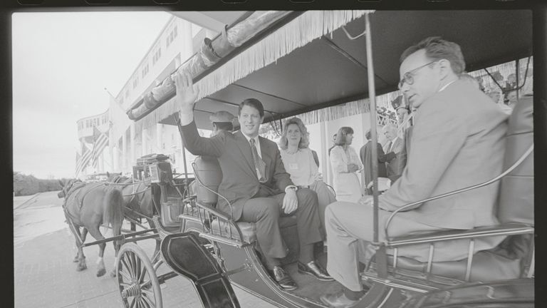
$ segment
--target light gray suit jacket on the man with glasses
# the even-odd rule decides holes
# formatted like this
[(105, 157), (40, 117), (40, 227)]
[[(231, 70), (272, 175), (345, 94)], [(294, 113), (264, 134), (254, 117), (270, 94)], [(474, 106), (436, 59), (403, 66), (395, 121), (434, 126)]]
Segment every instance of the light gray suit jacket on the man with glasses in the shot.
[[(459, 188), (483, 183), (501, 173), (507, 116), (488, 96), (455, 81), (436, 93), (416, 113), (412, 151), (402, 177), (380, 195), (384, 210)], [(447, 229), (496, 225), (494, 205), (499, 183), (424, 202), (398, 217)], [(390, 235), (413, 231), (390, 227)]]

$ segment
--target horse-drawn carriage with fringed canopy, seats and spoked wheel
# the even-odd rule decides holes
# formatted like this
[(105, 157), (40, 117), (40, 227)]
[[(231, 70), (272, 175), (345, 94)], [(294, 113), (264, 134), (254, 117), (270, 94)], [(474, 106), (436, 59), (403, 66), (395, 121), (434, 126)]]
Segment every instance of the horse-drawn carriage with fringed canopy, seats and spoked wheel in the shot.
[[(369, 28), (369, 18), (377, 25), (376, 30)], [(492, 21), (500, 20), (503, 22), (496, 29), (491, 27)], [(462, 24), (462, 21), (467, 24)], [(402, 29), (403, 27), (409, 29)], [(363, 29), (365, 37), (348, 34), (358, 33)], [(398, 82), (397, 58), (405, 46), (410, 46), (429, 34), (440, 33), (460, 43), (464, 48), (468, 67), (479, 69), (492, 63), (531, 56), (531, 37), (527, 34), (530, 30), (531, 15), (526, 11), (365, 12), (348, 22), (343, 29), (331, 29), (333, 34), (323, 36), (320, 40), (303, 46), (301, 50), (293, 51), (286, 58), (279, 59), (276, 66), (268, 66), (264, 71), (253, 73), (247, 77), (246, 84), (252, 85), (259, 81), (266, 84), (271, 80), (272, 74), (276, 73), (302, 76), (306, 65), (324, 65), (325, 67), (321, 67), (324, 68), (322, 71), (331, 72), (332, 76), (308, 75), (310, 80), (302, 80), (293, 86), (280, 81), (269, 84), (269, 98), (273, 103), (267, 103), (268, 98), (264, 100), (265, 108), (272, 111), (269, 120), (281, 120), (306, 111), (370, 96), (370, 123), (375, 123), (375, 81), (380, 83), (377, 87), (380, 92), (394, 90)], [(395, 43), (386, 42), (385, 37), (381, 41), (379, 31), (392, 38)], [(373, 39), (378, 38), (375, 46), (370, 45), (371, 34)], [(515, 39), (514, 44), (497, 41), (504, 37)], [(477, 45), (479, 42), (481, 46)], [(207, 46), (215, 45), (208, 41)], [(373, 71), (373, 51), (375, 56), (380, 55), (382, 61), (390, 61), (389, 64), (376, 63), (375, 69), (380, 67), (377, 70), (378, 75)], [(321, 69), (313, 68), (310, 74), (318, 71)], [(355, 78), (345, 79), (343, 85), (331, 84), (335, 83), (335, 78), (346, 75)], [(251, 78), (254, 78), (254, 82), (250, 81)], [(367, 91), (363, 91), (365, 83), (360, 78), (368, 80)], [(296, 81), (292, 77), (288, 79)], [(333, 86), (344, 88), (343, 91), (333, 91)], [(293, 92), (312, 91), (311, 88), (319, 89), (314, 92), (317, 96), (313, 98), (298, 96)], [(326, 93), (329, 90), (332, 91)], [(248, 91), (249, 87), (234, 86), (222, 90), (220, 94), (236, 101), (241, 96), (248, 95)], [(295, 102), (295, 99), (284, 98), (283, 95), (301, 100)], [(172, 98), (172, 93), (168, 98)], [(203, 98), (202, 102), (197, 103), (197, 111), (214, 111), (214, 104), (210, 101), (219, 99), (207, 100)], [(203, 109), (199, 109), (200, 106)], [(222, 107), (226, 108), (226, 103)], [(208, 123), (199, 116), (199, 112), (195, 114), (198, 126), (206, 128)], [(174, 123), (172, 118), (176, 121), (176, 117), (171, 117), (171, 123)], [(385, 230), (378, 230), (377, 217), (368, 222), (367, 225), (375, 227), (376, 235), (378, 232), (385, 232), (387, 240), (375, 241), (368, 247), (363, 247), (367, 253), (363, 254), (361, 260), (363, 270), (360, 277), (369, 290), (355, 307), (533, 306), (535, 262), (531, 98), (523, 98), (520, 107), (511, 116), (509, 125), (504, 173), (499, 177), (405, 205), (392, 212)], [(376, 140), (373, 130), (373, 142)], [(294, 262), (298, 242), (293, 240), (297, 236), (294, 217), (283, 217), (280, 221), (281, 234), (291, 251), (282, 263), (301, 286), (299, 289), (287, 291), (274, 282), (263, 265), (260, 247), (256, 245), (254, 224), (236, 222), (231, 219), (231, 213), (215, 207), (217, 200), (224, 198), (216, 191), (222, 179), (222, 171), (216, 161), (200, 157), (194, 161), (192, 168), (197, 182), (193, 192), (188, 188), (189, 179), (175, 178), (170, 163), (161, 156), (143, 160), (133, 170), (133, 182), (150, 184), (154, 209), (152, 219), (157, 231), (157, 234), (151, 236), (160, 240), (160, 247), (151, 257), (133, 243), (126, 243), (120, 248), (116, 274), (125, 307), (162, 307), (160, 284), (177, 275), (186, 277), (194, 284), (204, 307), (239, 307), (232, 285), (278, 307), (325, 307), (319, 296), (340, 288), (340, 284), (318, 282), (297, 273)], [(501, 181), (496, 209), (500, 225), (390, 237), (390, 222), (405, 208), (480, 188), (496, 181)], [(370, 217), (363, 217), (365, 219)], [(505, 240), (494, 250), (474, 253), (476, 239), (488, 237), (505, 237)], [(454, 262), (434, 262), (435, 246), (449, 245), (454, 240), (467, 242), (467, 258)], [(429, 250), (427, 262), (418, 262), (402, 255), (400, 251), (408, 245), (426, 245)], [(328, 250), (325, 252), (323, 247), (316, 248), (318, 259), (325, 262)], [(157, 269), (163, 263), (172, 272), (158, 276)]]

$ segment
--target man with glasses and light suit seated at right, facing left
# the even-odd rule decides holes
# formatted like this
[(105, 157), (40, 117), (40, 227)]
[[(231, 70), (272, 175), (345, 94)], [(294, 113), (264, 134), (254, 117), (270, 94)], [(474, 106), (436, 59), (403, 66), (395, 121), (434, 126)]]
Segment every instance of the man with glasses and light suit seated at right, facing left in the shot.
[[(485, 182), (501, 173), (507, 115), (488, 97), (459, 80), (465, 62), (457, 45), (439, 37), (424, 39), (402, 53), (400, 90), (417, 108), (409, 165), (402, 177), (378, 197), (379, 240), (392, 211), (459, 188)], [(435, 230), (467, 230), (496, 225), (494, 205), (499, 182), (432, 200), (395, 216), (390, 236)], [(329, 242), (328, 272), (341, 284), (341, 294), (325, 294), (330, 307), (351, 307), (365, 293), (358, 275), (358, 241), (373, 240), (373, 198), (360, 203), (334, 202), (325, 212)], [(475, 251), (490, 249), (502, 239), (475, 240)], [(468, 241), (435, 247), (434, 261), (462, 260)], [(399, 255), (427, 262), (428, 245), (412, 245)]]

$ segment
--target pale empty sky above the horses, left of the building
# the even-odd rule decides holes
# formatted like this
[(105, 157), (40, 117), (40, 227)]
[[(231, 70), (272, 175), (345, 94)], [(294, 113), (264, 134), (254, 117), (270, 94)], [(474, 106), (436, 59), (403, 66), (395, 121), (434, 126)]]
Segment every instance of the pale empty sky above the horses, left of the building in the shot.
[(167, 12), (12, 16), (14, 171), (72, 178), (80, 118), (109, 107), (167, 24)]

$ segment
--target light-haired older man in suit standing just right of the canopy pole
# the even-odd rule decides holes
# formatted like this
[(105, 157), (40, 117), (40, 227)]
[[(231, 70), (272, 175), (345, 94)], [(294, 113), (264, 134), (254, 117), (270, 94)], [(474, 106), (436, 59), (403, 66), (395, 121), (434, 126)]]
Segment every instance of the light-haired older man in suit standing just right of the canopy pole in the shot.
[(389, 142), (385, 145), (384, 153), (395, 153), (395, 157), (387, 160), (387, 178), (391, 183), (395, 182), (402, 175), (402, 170), (405, 168), (405, 140), (397, 135), (397, 127), (393, 124), (387, 124), (382, 128), (382, 132)]

